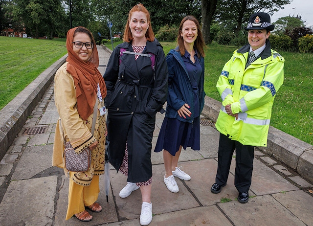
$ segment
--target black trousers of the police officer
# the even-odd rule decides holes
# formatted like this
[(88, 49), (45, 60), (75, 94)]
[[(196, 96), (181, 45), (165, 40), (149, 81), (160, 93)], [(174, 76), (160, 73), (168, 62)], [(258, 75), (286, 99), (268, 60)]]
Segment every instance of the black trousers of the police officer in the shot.
[(236, 149), (235, 187), (238, 192), (248, 192), (251, 185), (254, 147), (231, 140), (220, 134), (218, 167), (215, 182), (225, 185), (228, 179), (231, 159)]

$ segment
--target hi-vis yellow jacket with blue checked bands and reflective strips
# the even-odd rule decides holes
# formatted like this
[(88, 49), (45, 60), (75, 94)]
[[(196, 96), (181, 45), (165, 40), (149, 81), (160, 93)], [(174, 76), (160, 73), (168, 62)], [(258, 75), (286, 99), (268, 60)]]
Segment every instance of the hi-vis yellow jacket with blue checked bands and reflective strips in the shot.
[[(261, 57), (246, 69), (250, 45), (234, 51), (224, 65), (217, 82), (222, 98), (216, 128), (245, 145), (267, 146), (271, 109), (276, 92), (283, 85), (285, 59), (270, 49), (269, 41)], [(224, 106), (231, 104), (235, 117), (226, 113)]]

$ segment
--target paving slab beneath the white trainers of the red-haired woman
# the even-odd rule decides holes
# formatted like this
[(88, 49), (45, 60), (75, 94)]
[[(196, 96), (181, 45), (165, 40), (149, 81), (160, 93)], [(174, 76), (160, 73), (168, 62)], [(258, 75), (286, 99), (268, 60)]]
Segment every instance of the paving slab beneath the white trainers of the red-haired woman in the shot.
[[(152, 169), (153, 182), (151, 202), (153, 214), (173, 212), (199, 206), (199, 203), (197, 203), (192, 194), (179, 179), (176, 180), (179, 186), (179, 193), (172, 193), (167, 190), (163, 182), (165, 174), (164, 165), (153, 165)], [(139, 218), (142, 203), (140, 190), (138, 189), (132, 192), (127, 198), (120, 198), (119, 192), (126, 185), (127, 178), (120, 172), (118, 174), (116, 174), (115, 170), (113, 170), (113, 172), (114, 173), (111, 171), (111, 185), (119, 216), (122, 219)], [(171, 203), (171, 205), (168, 203)]]

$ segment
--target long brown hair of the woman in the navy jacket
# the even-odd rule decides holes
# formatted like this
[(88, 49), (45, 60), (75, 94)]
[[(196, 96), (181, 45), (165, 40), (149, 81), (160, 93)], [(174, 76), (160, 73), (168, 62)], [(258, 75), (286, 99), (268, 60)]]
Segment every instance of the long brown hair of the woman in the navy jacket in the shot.
[(198, 28), (198, 37), (195, 41), (195, 48), (197, 49), (198, 53), (200, 54), (200, 56), (204, 57), (205, 56), (205, 53), (204, 53), (204, 48), (206, 47), (205, 43), (204, 43), (204, 39), (203, 39), (203, 35), (202, 35), (202, 32), (201, 32), (201, 27), (200, 27), (200, 23), (198, 22), (198, 20), (192, 16), (192, 15), (189, 15), (189, 16), (186, 16), (184, 17), (181, 22), (180, 22), (180, 25), (179, 25), (179, 31), (178, 31), (178, 37), (177, 37), (177, 44), (179, 45), (179, 52), (180, 52), (180, 55), (183, 56), (185, 54), (185, 45), (184, 45), (184, 40), (183, 38), (181, 37), (181, 29), (182, 29), (182, 26), (183, 24), (186, 22), (186, 21), (193, 21), (197, 28)]

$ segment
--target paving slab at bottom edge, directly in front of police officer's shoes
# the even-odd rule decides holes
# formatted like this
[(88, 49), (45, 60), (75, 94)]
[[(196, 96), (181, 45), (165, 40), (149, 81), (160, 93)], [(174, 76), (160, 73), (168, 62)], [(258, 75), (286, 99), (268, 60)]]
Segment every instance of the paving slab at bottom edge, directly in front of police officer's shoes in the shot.
[(270, 195), (251, 198), (245, 204), (233, 201), (218, 203), (218, 206), (235, 226), (305, 226)]

